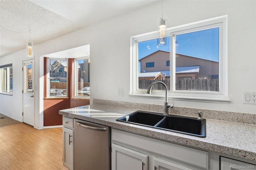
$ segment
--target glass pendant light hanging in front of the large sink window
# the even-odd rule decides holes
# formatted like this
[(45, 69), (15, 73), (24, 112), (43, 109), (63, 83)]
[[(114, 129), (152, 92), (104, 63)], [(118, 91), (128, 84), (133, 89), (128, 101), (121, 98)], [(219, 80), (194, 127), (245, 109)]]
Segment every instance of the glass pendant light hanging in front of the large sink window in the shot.
[(164, 46), (167, 44), (166, 42), (166, 21), (163, 18), (163, 1), (162, 1), (162, 17), (158, 19), (158, 29), (157, 29), (157, 45), (158, 46)]

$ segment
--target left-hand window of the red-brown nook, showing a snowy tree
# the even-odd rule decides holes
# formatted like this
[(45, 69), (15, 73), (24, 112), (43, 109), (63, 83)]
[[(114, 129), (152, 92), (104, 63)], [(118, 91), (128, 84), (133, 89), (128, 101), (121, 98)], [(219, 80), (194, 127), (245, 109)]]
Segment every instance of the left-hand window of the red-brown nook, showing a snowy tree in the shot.
[(68, 89), (68, 61), (48, 59), (48, 97), (66, 97)]

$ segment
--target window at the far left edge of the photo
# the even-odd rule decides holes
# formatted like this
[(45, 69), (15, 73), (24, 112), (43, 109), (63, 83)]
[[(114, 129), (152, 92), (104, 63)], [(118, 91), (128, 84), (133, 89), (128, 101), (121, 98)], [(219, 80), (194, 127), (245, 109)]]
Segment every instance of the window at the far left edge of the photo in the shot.
[(12, 64), (0, 66), (0, 93), (12, 94)]

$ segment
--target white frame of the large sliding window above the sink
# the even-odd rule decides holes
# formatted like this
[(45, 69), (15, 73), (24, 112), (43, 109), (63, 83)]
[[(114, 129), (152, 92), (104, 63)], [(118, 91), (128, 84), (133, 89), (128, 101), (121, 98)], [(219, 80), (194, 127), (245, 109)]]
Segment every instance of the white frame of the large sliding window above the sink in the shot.
[[(166, 34), (171, 35), (170, 41), (173, 40), (173, 34), (176, 34), (177, 32), (181, 32), (184, 30), (198, 30), (198, 27), (202, 28), (210, 28), (210, 27), (216, 27), (220, 26), (222, 27), (220, 29), (220, 62), (219, 62), (219, 79), (220, 81), (220, 92), (204, 92), (204, 91), (173, 91), (173, 85), (171, 85), (171, 91), (168, 91), (168, 98), (174, 99), (174, 100), (182, 100), (182, 101), (199, 101), (199, 102), (224, 102), (229, 103), (230, 99), (228, 99), (228, 77), (227, 77), (227, 16), (220, 16), (216, 18), (211, 18), (208, 20), (202, 20), (199, 22), (194, 22), (190, 24), (185, 24), (182, 26), (176, 26), (172, 28), (168, 28)], [(184, 31), (186, 32), (186, 31)], [(138, 89), (138, 54), (137, 54), (137, 43), (142, 42), (145, 40), (152, 40), (156, 39), (156, 31), (150, 32), (146, 34), (141, 34), (138, 36), (131, 37), (131, 72), (130, 72), (130, 95), (133, 97), (146, 97), (146, 98), (159, 98), (164, 96), (164, 91), (152, 91), (152, 95), (146, 94), (146, 90), (144, 89)], [(171, 48), (170, 48), (170, 55), (175, 56), (174, 51), (172, 50), (172, 44), (175, 45), (175, 43), (170, 42)], [(173, 54), (174, 53), (174, 54)], [(175, 57), (170, 57), (170, 62), (175, 62)], [(174, 70), (174, 67), (172, 64), (170, 64), (171, 70)], [(172, 71), (173, 72), (173, 71)], [(175, 71), (173, 72), (175, 73)], [(175, 83), (175, 81), (172, 81), (172, 83)]]

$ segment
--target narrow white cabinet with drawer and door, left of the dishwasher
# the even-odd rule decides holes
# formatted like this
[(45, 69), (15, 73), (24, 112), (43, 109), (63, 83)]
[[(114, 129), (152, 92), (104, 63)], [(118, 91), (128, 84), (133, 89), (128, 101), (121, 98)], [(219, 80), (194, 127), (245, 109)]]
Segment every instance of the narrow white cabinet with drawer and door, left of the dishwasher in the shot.
[(63, 142), (63, 166), (69, 170), (74, 169), (74, 123), (73, 119), (69, 117), (63, 117), (62, 119), (62, 142)]

